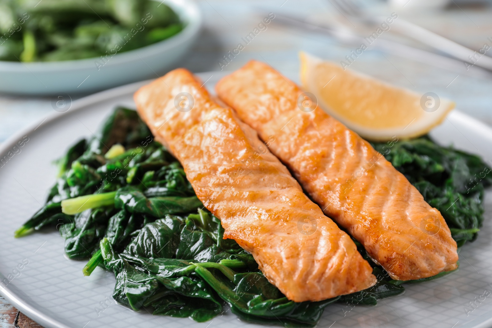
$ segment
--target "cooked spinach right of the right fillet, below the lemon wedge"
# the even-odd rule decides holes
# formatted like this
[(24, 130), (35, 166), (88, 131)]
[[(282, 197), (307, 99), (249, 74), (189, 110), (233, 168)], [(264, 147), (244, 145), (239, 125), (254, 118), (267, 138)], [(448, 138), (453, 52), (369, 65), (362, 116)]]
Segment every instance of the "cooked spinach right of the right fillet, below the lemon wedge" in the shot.
[(458, 247), (476, 239), (484, 190), (492, 184), (492, 170), (479, 156), (441, 147), (428, 136), (372, 146), (441, 212)]

